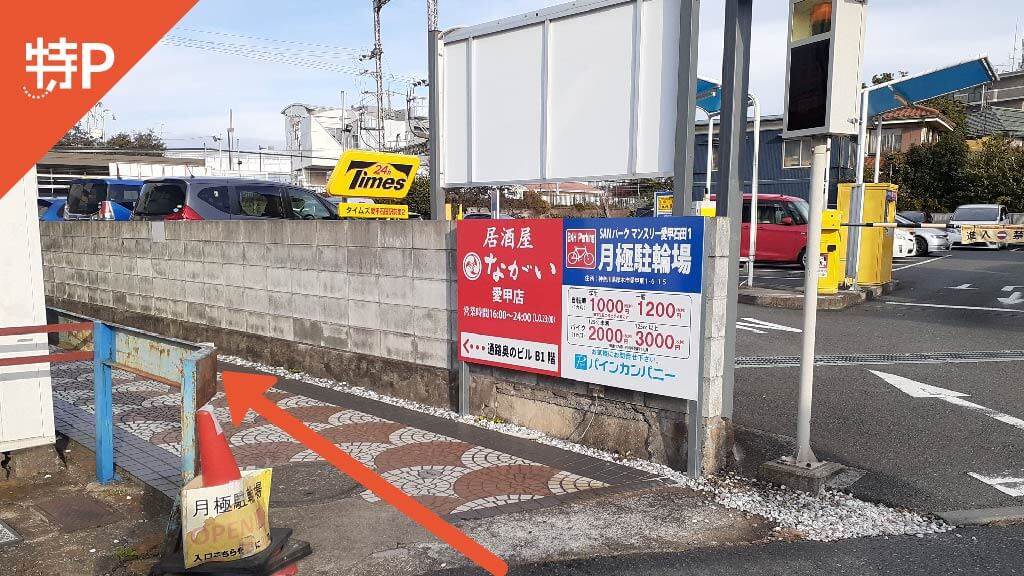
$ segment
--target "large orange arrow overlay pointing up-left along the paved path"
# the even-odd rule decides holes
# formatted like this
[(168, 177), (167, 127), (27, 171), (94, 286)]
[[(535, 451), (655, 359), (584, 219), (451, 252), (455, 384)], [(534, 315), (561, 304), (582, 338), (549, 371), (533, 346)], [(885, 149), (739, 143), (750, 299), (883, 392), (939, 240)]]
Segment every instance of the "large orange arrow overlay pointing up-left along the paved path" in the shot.
[(241, 424), (249, 410), (253, 410), (306, 448), (319, 454), (322, 458), (361, 484), (381, 500), (398, 508), (398, 511), (413, 519), (434, 536), (444, 540), (480, 568), (495, 576), (505, 576), (508, 573), (509, 567), (504, 560), (495, 556), (494, 552), (481, 546), (458, 528), (441, 520), (436, 513), (395, 488), (380, 475), (364, 465), (362, 462), (346, 454), (330, 440), (309, 429), (295, 416), (267, 400), (263, 394), (278, 383), (276, 377), (242, 372), (223, 372), (221, 376), (224, 382), (224, 394), (227, 396), (227, 405), (231, 411), (231, 421), (234, 425)]

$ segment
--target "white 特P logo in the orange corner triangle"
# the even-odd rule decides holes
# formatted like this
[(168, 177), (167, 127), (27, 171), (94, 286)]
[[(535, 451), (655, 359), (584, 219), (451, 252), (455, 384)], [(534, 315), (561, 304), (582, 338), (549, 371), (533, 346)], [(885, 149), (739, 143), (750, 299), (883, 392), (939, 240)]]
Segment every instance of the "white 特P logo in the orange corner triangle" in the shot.
[(35, 44), (25, 43), (25, 71), (36, 75), (34, 89), (23, 85), (25, 95), (44, 98), (54, 89), (75, 88), (75, 78), (81, 87), (92, 88), (92, 75), (106, 72), (114, 66), (114, 48), (101, 42), (69, 42), (63, 36), (56, 42), (36, 38)]

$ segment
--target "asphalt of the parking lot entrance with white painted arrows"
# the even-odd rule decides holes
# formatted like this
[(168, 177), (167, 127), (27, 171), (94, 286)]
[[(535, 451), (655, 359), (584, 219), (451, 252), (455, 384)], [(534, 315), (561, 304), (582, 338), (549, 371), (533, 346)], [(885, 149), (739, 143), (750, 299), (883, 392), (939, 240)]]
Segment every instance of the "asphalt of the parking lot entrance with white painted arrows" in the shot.
[[(849, 489), (868, 500), (931, 512), (1024, 505), (1024, 252), (908, 258), (894, 277), (890, 295), (819, 313), (817, 356), (846, 365), (816, 368), (813, 448), (862, 471)], [(738, 316), (737, 356), (800, 355), (801, 311), (741, 304)], [(745, 474), (792, 449), (798, 383), (792, 363), (737, 369)]]

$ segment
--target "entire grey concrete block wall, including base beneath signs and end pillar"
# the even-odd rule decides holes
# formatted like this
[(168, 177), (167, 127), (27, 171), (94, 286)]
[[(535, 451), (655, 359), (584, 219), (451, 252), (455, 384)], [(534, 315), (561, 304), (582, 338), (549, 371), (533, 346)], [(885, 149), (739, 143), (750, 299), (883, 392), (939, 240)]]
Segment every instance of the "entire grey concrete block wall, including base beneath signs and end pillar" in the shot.
[[(433, 221), (41, 222), (51, 305), (456, 406), (455, 233)], [(702, 404), (708, 471), (731, 448), (722, 418), (728, 224), (705, 237)], [(686, 468), (687, 404), (472, 367), (473, 413)]]

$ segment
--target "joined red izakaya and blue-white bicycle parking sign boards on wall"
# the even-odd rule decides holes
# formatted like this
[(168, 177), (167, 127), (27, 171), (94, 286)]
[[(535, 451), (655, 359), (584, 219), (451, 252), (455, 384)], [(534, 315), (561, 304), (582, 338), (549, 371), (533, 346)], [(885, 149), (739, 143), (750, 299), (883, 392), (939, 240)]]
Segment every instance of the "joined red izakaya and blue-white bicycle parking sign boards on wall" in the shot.
[(460, 359), (695, 400), (703, 223), (459, 222)]

